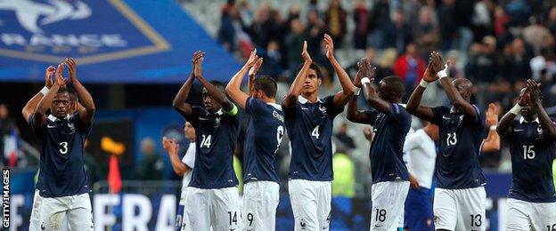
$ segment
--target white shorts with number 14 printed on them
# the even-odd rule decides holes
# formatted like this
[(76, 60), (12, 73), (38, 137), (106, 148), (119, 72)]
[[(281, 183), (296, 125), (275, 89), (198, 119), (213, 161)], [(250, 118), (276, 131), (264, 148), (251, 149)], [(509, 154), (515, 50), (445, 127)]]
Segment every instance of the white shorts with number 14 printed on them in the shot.
[(182, 230), (240, 230), (240, 195), (237, 187), (187, 187)]

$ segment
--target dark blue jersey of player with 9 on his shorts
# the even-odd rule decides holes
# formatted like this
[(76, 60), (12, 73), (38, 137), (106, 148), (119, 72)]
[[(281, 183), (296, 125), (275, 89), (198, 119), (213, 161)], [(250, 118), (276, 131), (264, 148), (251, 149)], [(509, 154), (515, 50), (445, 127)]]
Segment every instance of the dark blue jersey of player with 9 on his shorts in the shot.
[(282, 107), (249, 97), (245, 111), (251, 118), (245, 134), (243, 181), (279, 182), (274, 156), (284, 135)]

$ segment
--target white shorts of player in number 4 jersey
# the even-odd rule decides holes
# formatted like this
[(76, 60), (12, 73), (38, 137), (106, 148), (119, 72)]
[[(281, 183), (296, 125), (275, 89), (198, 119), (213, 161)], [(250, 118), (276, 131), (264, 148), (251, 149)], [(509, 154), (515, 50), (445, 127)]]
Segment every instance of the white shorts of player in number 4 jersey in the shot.
[(290, 179), (288, 186), (295, 230), (329, 230), (331, 181)]

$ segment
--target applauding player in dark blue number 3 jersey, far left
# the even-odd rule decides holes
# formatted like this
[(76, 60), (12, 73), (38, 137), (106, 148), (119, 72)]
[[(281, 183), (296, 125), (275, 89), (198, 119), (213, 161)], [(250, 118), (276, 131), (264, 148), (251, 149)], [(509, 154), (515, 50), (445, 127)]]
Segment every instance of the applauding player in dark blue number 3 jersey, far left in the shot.
[[(66, 79), (62, 76), (66, 66), (70, 68), (70, 82), (78, 100), (81, 100), (82, 107), (77, 109), (70, 98), (70, 90), (65, 87)], [(47, 70), (47, 79), (52, 75), (48, 72), (52, 73), (52, 70)], [(39, 211), (35, 218), (42, 230), (61, 230), (66, 229), (66, 226), (71, 230), (93, 230), (83, 147), (91, 131), (94, 102), (78, 81), (75, 60), (66, 59), (58, 65), (55, 76), (56, 80), (50, 89), (41, 91), (44, 97), (38, 101), (35, 111), (29, 114), (29, 108), (33, 107), (29, 104), (23, 110), (23, 116), (28, 119), (40, 142), (41, 164), (37, 182), (40, 196), (36, 196), (40, 197), (40, 203), (37, 202)], [(50, 115), (46, 114), (48, 110)], [(77, 113), (70, 114), (71, 111)]]

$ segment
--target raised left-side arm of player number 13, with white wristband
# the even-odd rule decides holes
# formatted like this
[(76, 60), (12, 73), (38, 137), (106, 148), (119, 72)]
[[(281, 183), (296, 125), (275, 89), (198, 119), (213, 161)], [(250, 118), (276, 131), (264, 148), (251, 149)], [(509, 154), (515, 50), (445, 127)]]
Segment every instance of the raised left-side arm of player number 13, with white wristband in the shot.
[(434, 118), (432, 108), (421, 105), (422, 94), (427, 89), (427, 85), (435, 82), (438, 78), (436, 75), (433, 75), (432, 72), (432, 66), (429, 63), (425, 69), (421, 83), (415, 87), (415, 90), (413, 90), (409, 100), (407, 100), (407, 104), (405, 105), (405, 110), (407, 110), (409, 114), (417, 116), (425, 121), (432, 121)]

